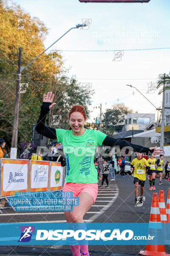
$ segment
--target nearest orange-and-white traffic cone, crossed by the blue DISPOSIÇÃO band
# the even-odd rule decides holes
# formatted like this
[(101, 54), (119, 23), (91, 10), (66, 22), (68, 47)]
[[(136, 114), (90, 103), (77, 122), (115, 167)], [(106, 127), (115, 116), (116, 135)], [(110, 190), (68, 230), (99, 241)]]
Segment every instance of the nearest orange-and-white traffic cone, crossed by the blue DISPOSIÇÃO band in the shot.
[[(153, 193), (152, 207), (150, 210), (150, 223), (161, 223), (161, 216), (159, 212), (158, 193)], [(156, 232), (160, 232), (157, 229)], [(156, 234), (155, 234), (156, 236)], [(139, 254), (147, 256), (170, 256), (165, 252), (164, 245), (146, 245), (144, 251), (140, 251)]]

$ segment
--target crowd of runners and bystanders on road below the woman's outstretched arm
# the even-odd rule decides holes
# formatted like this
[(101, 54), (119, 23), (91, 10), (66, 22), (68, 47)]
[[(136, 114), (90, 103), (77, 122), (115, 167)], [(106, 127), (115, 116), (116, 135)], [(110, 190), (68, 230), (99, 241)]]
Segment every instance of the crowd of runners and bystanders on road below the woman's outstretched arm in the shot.
[[(163, 154), (159, 155), (159, 158), (156, 160), (156, 156), (152, 154), (150, 157), (144, 158), (142, 153), (136, 153), (136, 157), (130, 162), (130, 170), (133, 176), (133, 183), (135, 184), (135, 200), (134, 202), (142, 204), (143, 194), (144, 194), (144, 183), (148, 179), (150, 183), (150, 190), (156, 190), (155, 182), (156, 177), (159, 177), (159, 185), (162, 185), (163, 177), (163, 167), (165, 170), (164, 179), (167, 177), (170, 181), (170, 162), (167, 161), (164, 166), (164, 156)], [(125, 165), (126, 157), (120, 157), (119, 160), (116, 159), (115, 155), (111, 157), (110, 161), (105, 161), (102, 156), (100, 156), (94, 163), (98, 173), (98, 180), (102, 180), (102, 184), (99, 187), (103, 187), (104, 181), (106, 181), (105, 188), (109, 187), (108, 175), (110, 173), (111, 179), (116, 180), (116, 175), (121, 177), (125, 176)], [(157, 185), (158, 185), (157, 184)], [(140, 196), (138, 198), (138, 190), (140, 185)]]

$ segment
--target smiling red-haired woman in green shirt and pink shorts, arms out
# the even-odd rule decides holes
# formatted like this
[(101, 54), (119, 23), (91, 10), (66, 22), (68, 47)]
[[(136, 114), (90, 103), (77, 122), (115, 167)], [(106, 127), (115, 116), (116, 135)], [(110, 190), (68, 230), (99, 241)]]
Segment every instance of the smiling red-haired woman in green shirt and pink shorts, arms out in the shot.
[[(125, 146), (133, 151), (146, 154), (159, 154), (161, 149), (145, 148), (134, 145), (126, 140), (116, 140), (101, 131), (84, 128), (87, 120), (85, 108), (74, 105), (68, 115), (70, 127), (68, 130), (55, 129), (45, 125), (45, 117), (56, 104), (52, 103), (54, 94), (48, 92), (43, 95), (40, 116), (37, 121), (36, 131), (45, 137), (62, 143), (66, 157), (66, 177), (62, 191), (71, 191), (79, 197), (79, 205), (73, 207), (72, 212), (65, 212), (68, 223), (83, 223), (85, 213), (94, 204), (98, 192), (97, 172), (94, 166), (94, 153), (97, 145), (115, 146), (120, 149)], [(69, 150), (68, 150), (69, 148)], [(81, 148), (81, 153), (79, 149)], [(84, 154), (82, 152), (84, 151)], [(67, 152), (67, 153), (66, 153)], [(73, 256), (89, 256), (88, 245), (70, 245)], [(80, 253), (81, 249), (81, 253)]]

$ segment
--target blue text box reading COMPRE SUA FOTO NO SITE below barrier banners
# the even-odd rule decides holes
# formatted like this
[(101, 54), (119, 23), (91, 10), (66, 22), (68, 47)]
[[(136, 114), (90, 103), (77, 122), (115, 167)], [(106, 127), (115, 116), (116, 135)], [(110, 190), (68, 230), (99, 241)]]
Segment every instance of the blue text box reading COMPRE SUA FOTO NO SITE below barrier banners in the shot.
[(79, 205), (79, 197), (73, 192), (16, 192), (9, 198), (9, 205), (19, 212), (71, 212)]

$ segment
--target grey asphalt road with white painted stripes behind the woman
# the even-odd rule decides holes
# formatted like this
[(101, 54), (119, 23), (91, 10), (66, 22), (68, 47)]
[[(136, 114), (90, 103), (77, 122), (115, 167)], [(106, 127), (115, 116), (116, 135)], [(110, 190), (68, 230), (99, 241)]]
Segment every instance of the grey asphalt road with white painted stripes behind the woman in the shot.
[[(101, 181), (99, 181), (99, 185)], [(156, 190), (149, 190), (149, 180), (147, 179), (144, 186), (144, 196), (146, 200), (142, 207), (135, 207), (134, 204), (134, 184), (133, 177), (126, 175), (126, 177), (120, 177), (116, 175), (116, 181), (110, 182), (109, 188), (99, 188), (98, 196), (94, 206), (85, 214), (85, 222), (149, 222), (150, 208), (152, 202), (153, 192), (164, 190), (165, 203), (167, 201), (167, 192), (169, 189), (167, 180), (163, 180), (163, 185), (159, 185), (159, 178), (156, 178)], [(65, 222), (65, 215), (62, 212), (14, 212), (12, 209), (3, 209), (3, 214), (0, 214), (0, 222)], [(31, 246), (33, 247), (33, 246)], [(35, 246), (34, 246), (35, 247)], [(36, 246), (42, 247), (42, 246)], [(43, 246), (44, 250), (47, 248), (57, 250), (69, 250), (69, 246), (53, 245)], [(97, 252), (103, 252), (103, 255), (118, 255), (116, 253), (127, 253), (132, 255), (138, 255), (140, 250), (144, 250), (145, 246), (138, 245), (90, 245), (89, 252), (92, 255), (100, 255)], [(170, 246), (165, 246), (166, 252), (170, 253)], [(55, 250), (55, 251), (57, 251)], [(96, 254), (94, 253), (96, 251)], [(107, 253), (107, 254), (106, 254)], [(3, 254), (1, 252), (1, 254)], [(59, 255), (68, 255), (60, 254)], [(122, 254), (120, 254), (122, 255)]]

